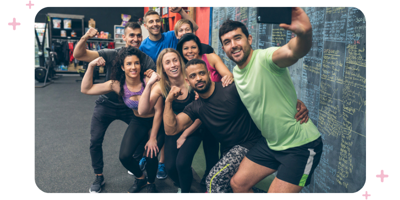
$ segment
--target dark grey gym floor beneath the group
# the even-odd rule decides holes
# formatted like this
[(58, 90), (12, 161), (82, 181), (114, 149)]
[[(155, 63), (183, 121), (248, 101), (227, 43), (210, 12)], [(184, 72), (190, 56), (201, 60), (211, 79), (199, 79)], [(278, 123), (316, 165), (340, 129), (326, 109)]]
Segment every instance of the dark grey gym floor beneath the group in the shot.
[[(62, 74), (44, 87), (35, 87), (34, 172), (36, 186), (44, 192), (87, 193), (94, 181), (89, 140), (91, 115), (98, 96), (81, 93), (81, 79), (78, 74)], [(100, 76), (95, 82), (103, 79)], [(35, 86), (41, 85), (35, 80)], [(115, 120), (105, 133), (102, 146), (105, 184), (101, 192), (125, 193), (133, 183), (134, 176), (127, 173), (118, 159), (126, 127), (124, 122)], [(190, 192), (205, 192), (205, 187), (199, 184), (204, 163), (200, 145), (192, 162), (194, 178)], [(266, 191), (273, 178), (273, 175), (266, 177), (256, 187)], [(177, 192), (178, 187), (169, 177), (156, 178), (155, 184), (158, 192)]]

